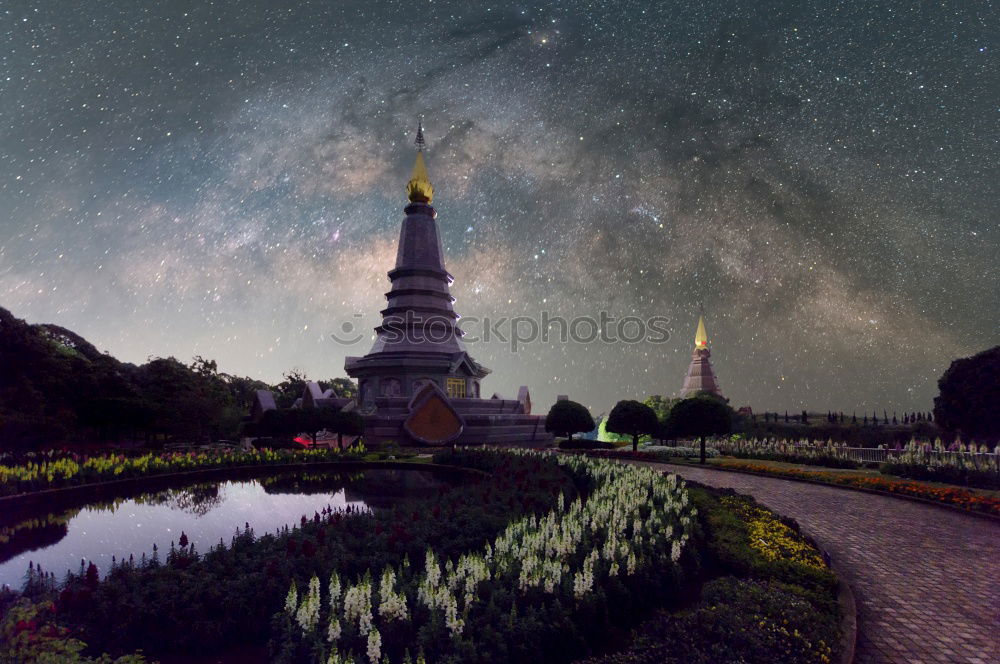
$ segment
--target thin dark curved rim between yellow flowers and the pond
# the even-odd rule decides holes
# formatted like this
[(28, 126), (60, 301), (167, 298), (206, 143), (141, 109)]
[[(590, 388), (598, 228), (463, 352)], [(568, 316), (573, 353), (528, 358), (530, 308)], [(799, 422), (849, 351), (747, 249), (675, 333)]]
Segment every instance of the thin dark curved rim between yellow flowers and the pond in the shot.
[[(143, 483), (169, 483), (171, 480), (182, 479), (214, 479), (224, 477), (229, 473), (245, 471), (269, 471), (276, 472), (288, 470), (425, 470), (430, 472), (443, 472), (459, 475), (475, 475), (479, 477), (488, 476), (481, 470), (474, 468), (464, 468), (461, 466), (450, 466), (446, 464), (434, 463), (412, 463), (407, 461), (317, 461), (314, 463), (282, 463), (282, 464), (256, 464), (249, 466), (223, 466), (219, 468), (203, 468), (201, 470), (187, 470), (179, 473), (158, 473), (156, 475), (146, 475), (143, 477), (128, 477), (110, 482), (91, 482), (90, 484), (77, 484), (75, 486), (64, 486), (55, 489), (42, 489), (29, 493), (18, 493), (12, 496), (0, 496), (0, 510), (12, 510), (21, 508), (38, 507), (39, 503), (48, 500), (60, 501), (66, 499), (78, 500), (90, 496), (99, 496), (102, 492), (117, 489), (143, 488)], [(112, 493), (114, 491), (111, 491)]]

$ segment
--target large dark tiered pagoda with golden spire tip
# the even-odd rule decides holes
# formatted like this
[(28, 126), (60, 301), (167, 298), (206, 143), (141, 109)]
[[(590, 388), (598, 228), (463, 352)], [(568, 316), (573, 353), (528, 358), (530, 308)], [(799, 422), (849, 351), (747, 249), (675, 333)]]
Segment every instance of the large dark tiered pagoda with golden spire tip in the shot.
[(424, 162), (422, 127), (416, 144), (382, 324), (375, 328), (368, 354), (344, 363), (358, 381), (364, 438), (432, 445), (551, 443), (544, 417), (531, 415), (527, 387), (515, 399), (480, 398), (480, 381), (490, 371), (462, 343), (449, 290), (453, 278), (444, 265), (437, 212), (431, 207), (434, 187)]

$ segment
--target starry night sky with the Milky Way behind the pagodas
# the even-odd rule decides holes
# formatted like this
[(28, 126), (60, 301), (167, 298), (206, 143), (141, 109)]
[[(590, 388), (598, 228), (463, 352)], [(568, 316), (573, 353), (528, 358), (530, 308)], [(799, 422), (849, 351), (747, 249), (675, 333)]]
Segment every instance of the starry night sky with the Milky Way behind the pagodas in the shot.
[(929, 410), (1000, 341), (989, 1), (14, 0), (0, 34), (0, 306), (123, 360), (343, 375), (418, 115), (463, 316), (671, 321), (471, 344), (485, 394), (676, 393), (699, 303), (758, 411)]

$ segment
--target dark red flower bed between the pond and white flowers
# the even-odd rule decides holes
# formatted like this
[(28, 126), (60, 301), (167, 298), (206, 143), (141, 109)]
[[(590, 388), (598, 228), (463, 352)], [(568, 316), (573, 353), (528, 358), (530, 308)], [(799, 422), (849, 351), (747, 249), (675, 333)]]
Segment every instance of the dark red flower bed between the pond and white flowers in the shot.
[[(578, 491), (553, 459), (458, 452), (439, 460), (493, 472), (470, 474), (436, 495), (399, 499), (374, 513), (303, 515), (279, 533), (257, 534), (238, 524), (230, 542), (207, 552), (172, 547), (120, 561), (104, 578), (96, 567), (81, 567), (64, 583), (49, 574), (29, 575), (21, 595), (55, 600), (55, 618), (94, 653), (142, 648), (151, 659), (183, 658), (236, 644), (264, 651), (270, 619), (293, 579), (304, 590), (313, 575), (326, 579), (337, 571), (347, 579), (371, 566), (400, 568), (422, 560), (431, 544), (442, 558), (457, 559), (492, 541), (512, 519), (543, 515), (559, 495), (572, 500)], [(0, 613), (4, 604), (0, 596)]]

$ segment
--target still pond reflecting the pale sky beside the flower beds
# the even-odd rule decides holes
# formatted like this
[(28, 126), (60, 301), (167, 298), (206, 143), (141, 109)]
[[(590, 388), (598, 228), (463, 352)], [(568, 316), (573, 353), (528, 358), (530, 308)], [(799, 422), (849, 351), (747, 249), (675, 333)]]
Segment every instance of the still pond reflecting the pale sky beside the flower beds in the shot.
[(93, 561), (104, 573), (118, 560), (161, 559), (183, 532), (200, 552), (229, 543), (246, 525), (257, 535), (324, 509), (379, 509), (402, 497), (436, 493), (444, 480), (419, 470), (294, 473), (202, 482), (91, 502), (53, 513), (0, 515), (0, 586), (19, 589), (29, 562), (54, 572)]

